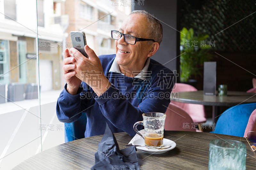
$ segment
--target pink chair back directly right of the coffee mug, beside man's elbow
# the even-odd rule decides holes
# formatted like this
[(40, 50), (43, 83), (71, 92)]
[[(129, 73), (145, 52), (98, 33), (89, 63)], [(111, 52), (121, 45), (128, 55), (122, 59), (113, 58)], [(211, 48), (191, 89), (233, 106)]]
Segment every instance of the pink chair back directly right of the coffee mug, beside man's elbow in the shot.
[(164, 130), (166, 131), (198, 131), (192, 118), (179, 106), (170, 103), (166, 112)]

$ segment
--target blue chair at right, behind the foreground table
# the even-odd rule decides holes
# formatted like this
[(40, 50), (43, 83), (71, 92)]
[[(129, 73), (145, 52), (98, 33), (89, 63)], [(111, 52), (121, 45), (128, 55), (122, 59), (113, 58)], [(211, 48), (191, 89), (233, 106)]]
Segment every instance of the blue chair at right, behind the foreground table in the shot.
[(244, 137), (249, 117), (256, 109), (256, 103), (240, 104), (224, 111), (212, 133)]

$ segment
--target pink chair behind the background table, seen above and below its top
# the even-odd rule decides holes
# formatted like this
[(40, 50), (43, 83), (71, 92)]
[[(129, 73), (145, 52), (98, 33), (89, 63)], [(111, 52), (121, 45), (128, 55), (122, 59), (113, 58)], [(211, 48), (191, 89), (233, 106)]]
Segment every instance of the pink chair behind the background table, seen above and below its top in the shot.
[[(172, 92), (183, 92), (183, 91), (197, 91), (197, 89), (189, 84), (184, 83), (175, 83), (172, 89)], [(179, 96), (179, 95), (178, 95)], [(189, 116), (192, 118), (194, 123), (203, 123), (206, 122), (205, 112), (204, 112), (204, 105), (201, 104), (191, 104), (191, 103), (180, 103), (180, 102), (173, 102), (182, 109), (184, 109)]]

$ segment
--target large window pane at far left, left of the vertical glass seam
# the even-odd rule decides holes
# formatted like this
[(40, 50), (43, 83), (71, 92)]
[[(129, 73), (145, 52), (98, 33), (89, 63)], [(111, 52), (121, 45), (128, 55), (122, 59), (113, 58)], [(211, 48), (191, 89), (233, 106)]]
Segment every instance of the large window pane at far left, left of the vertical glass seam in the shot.
[(36, 1), (0, 1), (0, 25), (0, 168), (11, 169), (42, 150)]

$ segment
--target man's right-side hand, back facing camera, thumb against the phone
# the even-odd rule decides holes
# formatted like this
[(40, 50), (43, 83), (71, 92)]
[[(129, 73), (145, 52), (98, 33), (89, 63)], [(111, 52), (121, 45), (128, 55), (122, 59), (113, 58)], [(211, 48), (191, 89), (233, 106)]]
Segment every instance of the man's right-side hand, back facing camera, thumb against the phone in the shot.
[(83, 56), (75, 48), (70, 49), (70, 52), (73, 53), (75, 58), (75, 61), (72, 60), (72, 63), (76, 65), (73, 70), (76, 72), (76, 78), (84, 81), (93, 89), (97, 96), (100, 96), (110, 87), (111, 84), (103, 73), (98, 56), (87, 45), (84, 47), (84, 50), (88, 54), (89, 58)]

